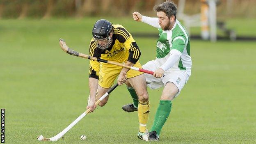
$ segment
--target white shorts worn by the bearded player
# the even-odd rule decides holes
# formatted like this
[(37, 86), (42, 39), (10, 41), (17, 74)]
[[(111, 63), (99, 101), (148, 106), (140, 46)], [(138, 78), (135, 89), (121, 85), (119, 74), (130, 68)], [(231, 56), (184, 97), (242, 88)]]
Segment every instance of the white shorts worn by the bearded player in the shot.
[[(160, 65), (155, 60), (152, 60), (144, 64), (142, 68), (149, 71), (156, 71), (160, 68)], [(158, 89), (165, 86), (168, 82), (172, 82), (178, 87), (178, 94), (176, 94), (176, 96), (178, 96), (181, 92), (181, 89), (187, 83), (187, 80), (189, 80), (189, 76), (187, 73), (185, 73), (185, 71), (175, 70), (165, 71), (164, 74), (165, 76), (162, 78), (155, 78), (153, 75), (145, 73), (144, 75), (146, 77), (147, 86), (150, 89)]]

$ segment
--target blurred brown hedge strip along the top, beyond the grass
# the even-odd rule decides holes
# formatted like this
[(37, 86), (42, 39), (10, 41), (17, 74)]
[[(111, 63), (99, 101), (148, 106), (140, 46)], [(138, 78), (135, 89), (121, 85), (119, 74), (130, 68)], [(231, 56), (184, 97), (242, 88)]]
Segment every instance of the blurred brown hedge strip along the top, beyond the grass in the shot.
[[(173, 0), (178, 5), (178, 0)], [(165, 0), (0, 0), (0, 18), (130, 16), (133, 11), (154, 16), (153, 6)], [(256, 0), (219, 0), (218, 16), (256, 17)], [(200, 0), (186, 0), (185, 13), (200, 12)]]

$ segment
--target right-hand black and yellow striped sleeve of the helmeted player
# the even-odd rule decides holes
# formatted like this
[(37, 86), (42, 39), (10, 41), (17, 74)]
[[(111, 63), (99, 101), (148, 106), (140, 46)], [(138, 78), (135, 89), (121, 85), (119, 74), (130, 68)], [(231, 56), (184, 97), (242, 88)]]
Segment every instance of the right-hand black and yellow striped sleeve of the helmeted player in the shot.
[(128, 61), (135, 64), (139, 60), (141, 52), (132, 35), (123, 27), (114, 29), (114, 32), (117, 34), (119, 42), (129, 51)]

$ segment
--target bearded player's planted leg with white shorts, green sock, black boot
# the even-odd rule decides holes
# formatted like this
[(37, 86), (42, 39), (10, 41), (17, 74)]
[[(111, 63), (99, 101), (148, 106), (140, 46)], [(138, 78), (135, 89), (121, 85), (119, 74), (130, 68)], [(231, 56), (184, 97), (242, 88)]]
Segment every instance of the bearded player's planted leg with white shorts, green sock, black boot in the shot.
[(171, 112), (171, 101), (178, 96), (188, 80), (188, 76), (184, 73), (167, 73), (165, 77), (162, 78), (163, 82), (165, 82), (165, 88), (162, 91), (153, 126), (149, 133), (149, 141), (158, 141), (162, 127)]

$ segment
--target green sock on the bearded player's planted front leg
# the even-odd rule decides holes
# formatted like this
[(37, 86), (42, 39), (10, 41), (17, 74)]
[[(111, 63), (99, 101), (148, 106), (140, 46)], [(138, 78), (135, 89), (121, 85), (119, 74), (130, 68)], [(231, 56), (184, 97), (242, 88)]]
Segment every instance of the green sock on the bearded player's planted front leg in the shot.
[(169, 117), (170, 112), (171, 112), (171, 101), (160, 100), (158, 110), (155, 113), (154, 123), (150, 131), (151, 132), (156, 131), (156, 133), (160, 135), (162, 126), (164, 126), (165, 121)]

